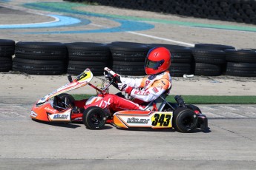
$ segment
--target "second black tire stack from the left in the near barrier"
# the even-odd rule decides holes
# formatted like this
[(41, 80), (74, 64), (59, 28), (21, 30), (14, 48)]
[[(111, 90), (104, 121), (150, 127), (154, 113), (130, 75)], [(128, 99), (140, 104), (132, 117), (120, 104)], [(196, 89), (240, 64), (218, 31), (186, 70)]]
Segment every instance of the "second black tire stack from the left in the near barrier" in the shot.
[(67, 50), (59, 42), (18, 42), (13, 71), (30, 75), (61, 75), (66, 72)]

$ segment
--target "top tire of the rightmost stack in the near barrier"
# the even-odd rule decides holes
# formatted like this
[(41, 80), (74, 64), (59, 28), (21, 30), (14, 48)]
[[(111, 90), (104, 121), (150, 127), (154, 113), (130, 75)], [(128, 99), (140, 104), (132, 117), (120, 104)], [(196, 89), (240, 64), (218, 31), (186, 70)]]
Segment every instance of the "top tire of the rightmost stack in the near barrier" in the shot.
[(238, 63), (256, 63), (256, 50), (225, 50), (226, 61)]

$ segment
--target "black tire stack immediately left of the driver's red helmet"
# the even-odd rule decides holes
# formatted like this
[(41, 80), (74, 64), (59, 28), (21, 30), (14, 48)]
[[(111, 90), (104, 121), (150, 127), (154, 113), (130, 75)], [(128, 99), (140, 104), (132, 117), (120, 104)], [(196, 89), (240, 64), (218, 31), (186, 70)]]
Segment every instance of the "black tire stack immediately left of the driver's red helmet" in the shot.
[(114, 72), (120, 75), (145, 75), (145, 57), (150, 49), (147, 44), (116, 41), (108, 45)]

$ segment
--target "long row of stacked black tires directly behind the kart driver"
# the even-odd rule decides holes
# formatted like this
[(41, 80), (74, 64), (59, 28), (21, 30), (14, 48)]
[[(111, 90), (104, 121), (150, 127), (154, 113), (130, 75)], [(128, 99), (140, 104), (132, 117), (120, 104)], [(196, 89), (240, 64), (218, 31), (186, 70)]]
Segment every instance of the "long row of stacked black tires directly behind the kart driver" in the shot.
[[(78, 75), (90, 68), (103, 75), (110, 67), (120, 75), (145, 75), (145, 57), (153, 47), (171, 52), (171, 76), (232, 75), (256, 77), (256, 49), (235, 50), (221, 44), (195, 44), (194, 48), (172, 44), (140, 44), (115, 41), (92, 42), (18, 42), (0, 39), (0, 72), (24, 72), (30, 75)], [(15, 57), (13, 58), (13, 54)]]

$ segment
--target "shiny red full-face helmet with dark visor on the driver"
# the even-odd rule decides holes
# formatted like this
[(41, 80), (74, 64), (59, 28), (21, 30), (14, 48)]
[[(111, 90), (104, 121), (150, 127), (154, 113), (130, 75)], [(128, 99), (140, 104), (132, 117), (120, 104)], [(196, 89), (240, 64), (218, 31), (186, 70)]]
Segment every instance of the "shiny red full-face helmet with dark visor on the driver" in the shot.
[(145, 73), (156, 75), (164, 72), (171, 65), (171, 53), (165, 47), (154, 47), (148, 51), (145, 58)]

